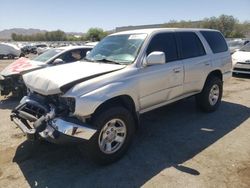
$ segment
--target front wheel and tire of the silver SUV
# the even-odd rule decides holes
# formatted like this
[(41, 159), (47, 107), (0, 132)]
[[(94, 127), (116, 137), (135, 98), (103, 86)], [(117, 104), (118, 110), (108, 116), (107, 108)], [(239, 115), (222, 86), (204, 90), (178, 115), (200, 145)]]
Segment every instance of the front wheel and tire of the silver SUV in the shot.
[(92, 124), (98, 130), (87, 143), (90, 159), (101, 165), (119, 160), (127, 151), (135, 133), (131, 113), (124, 107), (111, 107), (94, 115)]

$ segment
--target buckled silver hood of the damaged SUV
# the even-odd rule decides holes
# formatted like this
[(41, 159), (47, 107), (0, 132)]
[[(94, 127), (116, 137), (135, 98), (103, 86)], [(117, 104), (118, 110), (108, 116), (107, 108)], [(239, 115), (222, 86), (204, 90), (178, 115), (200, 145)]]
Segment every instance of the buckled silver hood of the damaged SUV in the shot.
[(31, 90), (43, 95), (53, 95), (65, 92), (77, 83), (124, 67), (125, 65), (81, 61), (32, 71), (25, 74), (23, 79)]

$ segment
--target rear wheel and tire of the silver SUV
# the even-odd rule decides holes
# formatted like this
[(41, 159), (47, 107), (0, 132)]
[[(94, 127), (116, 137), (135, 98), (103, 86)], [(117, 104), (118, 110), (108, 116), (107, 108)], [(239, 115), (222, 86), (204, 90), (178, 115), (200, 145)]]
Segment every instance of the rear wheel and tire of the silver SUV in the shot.
[(218, 77), (207, 79), (204, 88), (196, 96), (197, 106), (204, 112), (214, 112), (221, 103), (223, 82)]

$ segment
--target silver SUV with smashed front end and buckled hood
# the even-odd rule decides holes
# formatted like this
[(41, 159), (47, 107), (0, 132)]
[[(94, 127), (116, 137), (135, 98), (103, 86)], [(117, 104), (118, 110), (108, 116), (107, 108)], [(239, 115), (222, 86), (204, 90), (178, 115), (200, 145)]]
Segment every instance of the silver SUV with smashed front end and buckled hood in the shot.
[(231, 64), (216, 30), (115, 33), (84, 61), (25, 74), (29, 94), (11, 119), (29, 139), (79, 142), (92, 159), (107, 164), (126, 152), (147, 111), (189, 96), (203, 111), (215, 111)]

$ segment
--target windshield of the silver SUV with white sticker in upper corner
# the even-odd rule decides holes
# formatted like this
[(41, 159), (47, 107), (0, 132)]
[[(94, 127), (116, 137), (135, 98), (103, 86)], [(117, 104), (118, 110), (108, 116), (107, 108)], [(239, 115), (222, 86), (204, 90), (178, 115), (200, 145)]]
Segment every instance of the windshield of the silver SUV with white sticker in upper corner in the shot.
[(86, 60), (131, 64), (136, 59), (146, 36), (147, 34), (108, 36), (90, 51)]

